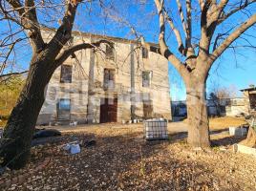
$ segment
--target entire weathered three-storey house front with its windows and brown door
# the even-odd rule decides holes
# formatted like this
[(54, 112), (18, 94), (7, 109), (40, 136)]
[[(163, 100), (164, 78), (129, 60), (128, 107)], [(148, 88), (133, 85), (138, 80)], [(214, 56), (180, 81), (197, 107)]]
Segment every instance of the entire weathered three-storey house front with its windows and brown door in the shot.
[[(43, 32), (51, 39), (52, 30)], [(106, 39), (100, 48), (81, 50), (54, 72), (37, 124), (171, 119), (168, 61), (137, 41), (74, 32), (67, 46)], [(156, 45), (157, 46), (157, 45)]]

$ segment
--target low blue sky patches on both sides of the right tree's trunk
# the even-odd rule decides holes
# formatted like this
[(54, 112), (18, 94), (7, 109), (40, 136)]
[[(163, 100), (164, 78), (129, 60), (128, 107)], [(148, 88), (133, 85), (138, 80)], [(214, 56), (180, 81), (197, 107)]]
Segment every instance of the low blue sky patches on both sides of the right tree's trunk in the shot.
[[(251, 41), (256, 44), (256, 40)], [(251, 49), (241, 50), (243, 55), (226, 51), (213, 65), (207, 79), (207, 92), (211, 91), (215, 84), (225, 88), (235, 88), (237, 96), (242, 96), (239, 90), (248, 85), (256, 85), (256, 53)], [(185, 87), (181, 75), (169, 65), (169, 82), (173, 100), (185, 99)]]

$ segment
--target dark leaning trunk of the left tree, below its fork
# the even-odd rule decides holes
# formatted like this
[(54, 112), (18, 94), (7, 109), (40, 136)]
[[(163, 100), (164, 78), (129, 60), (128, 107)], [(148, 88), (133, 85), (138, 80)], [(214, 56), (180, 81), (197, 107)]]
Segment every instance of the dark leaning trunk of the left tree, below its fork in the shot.
[(48, 59), (33, 56), (26, 84), (11, 111), (11, 116), (4, 129), (0, 156), (2, 166), (11, 169), (23, 167), (30, 157), (34, 126), (44, 103), (45, 88), (53, 74), (53, 69), (47, 69)]

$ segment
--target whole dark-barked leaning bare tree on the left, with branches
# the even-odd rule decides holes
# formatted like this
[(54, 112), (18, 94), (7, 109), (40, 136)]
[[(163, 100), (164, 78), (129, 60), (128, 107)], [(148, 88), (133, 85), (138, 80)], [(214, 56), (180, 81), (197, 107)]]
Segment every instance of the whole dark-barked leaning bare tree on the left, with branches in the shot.
[[(50, 6), (45, 5), (44, 3), (46, 2), (43, 1), (42, 4), (38, 5), (38, 2), (34, 0), (25, 0), (24, 3), (19, 0), (1, 1), (1, 21), (7, 21), (8, 23), (14, 23), (19, 26), (20, 30), (18, 32), (25, 33), (24, 38), (29, 39), (32, 47), (32, 58), (27, 80), (11, 112), (11, 117), (4, 129), (3, 139), (0, 145), (0, 156), (4, 161), (1, 165), (7, 165), (11, 168), (24, 166), (30, 157), (34, 126), (45, 100), (45, 88), (55, 69), (69, 56), (74, 56), (76, 51), (96, 48), (101, 43), (107, 43), (106, 40), (102, 39), (92, 44), (82, 43), (64, 47), (72, 38), (75, 13), (79, 1), (66, 0), (61, 5), (52, 3)], [(54, 8), (56, 6), (61, 6), (61, 9), (64, 10), (64, 15), (62, 19), (56, 18), (59, 21), (59, 27), (54, 32), (53, 38), (49, 42), (46, 42), (41, 33), (44, 25), (43, 23), (39, 23), (42, 19), (38, 19), (38, 9), (43, 9), (47, 14), (49, 12), (48, 8)], [(8, 39), (11, 39), (12, 35), (13, 33), (8, 36)], [(1, 41), (3, 46), (11, 47), (11, 49), (8, 49), (8, 53), (6, 53), (1, 69), (6, 66), (14, 45), (21, 40), (21, 38), (18, 38), (4, 45), (4, 41)]]

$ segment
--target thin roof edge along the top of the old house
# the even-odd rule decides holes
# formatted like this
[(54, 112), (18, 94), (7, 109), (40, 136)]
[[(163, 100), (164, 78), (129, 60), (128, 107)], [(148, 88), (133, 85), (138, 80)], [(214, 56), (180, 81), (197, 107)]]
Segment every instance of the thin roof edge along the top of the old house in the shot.
[[(56, 31), (56, 29), (48, 28), (48, 27), (42, 27), (41, 29), (44, 30), (44, 31), (50, 31), (50, 32), (55, 32)], [(137, 44), (137, 45), (141, 44), (138, 40), (132, 40), (132, 39), (121, 38), (121, 37), (110, 36), (110, 35), (102, 35), (102, 34), (97, 34), (97, 33), (79, 32), (79, 31), (73, 31), (72, 33), (75, 34), (76, 36), (82, 35), (82, 36), (85, 36), (85, 37), (104, 38), (104, 39), (123, 42), (123, 43), (127, 43), (127, 44)], [(156, 46), (156, 47), (160, 46), (159, 44), (153, 43), (153, 42), (147, 42), (147, 43), (149, 43), (152, 46)]]

